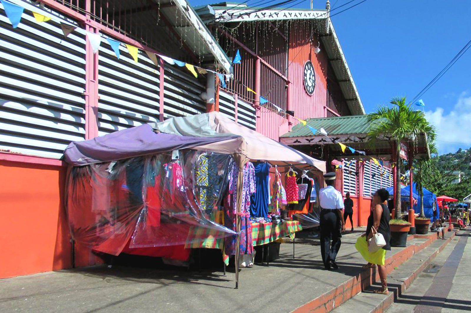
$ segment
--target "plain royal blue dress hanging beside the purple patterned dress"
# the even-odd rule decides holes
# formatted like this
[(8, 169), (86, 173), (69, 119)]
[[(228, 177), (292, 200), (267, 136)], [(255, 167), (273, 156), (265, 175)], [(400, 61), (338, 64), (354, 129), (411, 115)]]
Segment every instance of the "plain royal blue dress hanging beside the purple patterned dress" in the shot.
[(259, 163), (255, 165), (255, 190), (250, 198), (250, 216), (267, 217), (268, 201), (270, 199), (269, 188), (270, 165)]

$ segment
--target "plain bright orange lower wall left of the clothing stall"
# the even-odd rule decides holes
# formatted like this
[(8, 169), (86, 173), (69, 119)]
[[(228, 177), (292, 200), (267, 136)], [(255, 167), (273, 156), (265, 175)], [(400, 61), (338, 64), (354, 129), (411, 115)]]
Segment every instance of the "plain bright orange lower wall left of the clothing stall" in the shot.
[(71, 267), (65, 168), (0, 161), (0, 278)]

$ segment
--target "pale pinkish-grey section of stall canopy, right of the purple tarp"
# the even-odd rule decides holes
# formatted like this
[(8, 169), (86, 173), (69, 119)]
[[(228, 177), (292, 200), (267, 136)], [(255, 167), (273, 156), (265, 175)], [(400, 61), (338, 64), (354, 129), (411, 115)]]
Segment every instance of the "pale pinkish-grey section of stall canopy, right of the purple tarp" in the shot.
[[(238, 152), (250, 160), (263, 160), (278, 165), (314, 168), (325, 172), (325, 161), (309, 157), (296, 149), (239, 125), (219, 112), (197, 114), (188, 117), (173, 117), (163, 122), (152, 123), (151, 125), (161, 133), (180, 136), (201, 136), (208, 138), (219, 138), (228, 135), (241, 136), (244, 138), (245, 144), (237, 148)], [(228, 148), (222, 142), (214, 142), (197, 149), (229, 153), (230, 149), (228, 150)]]

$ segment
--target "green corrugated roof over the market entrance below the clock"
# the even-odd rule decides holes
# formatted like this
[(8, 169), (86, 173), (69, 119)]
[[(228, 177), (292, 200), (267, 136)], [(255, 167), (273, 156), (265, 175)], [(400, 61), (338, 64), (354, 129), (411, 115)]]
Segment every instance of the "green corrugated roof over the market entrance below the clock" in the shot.
[[(306, 122), (317, 130), (321, 127), (324, 128), (329, 135), (367, 134), (371, 125), (367, 115), (309, 118)], [(291, 132), (285, 133), (281, 137), (308, 137), (312, 135), (309, 127), (300, 123), (294, 126)], [(316, 135), (320, 135), (320, 133)]]

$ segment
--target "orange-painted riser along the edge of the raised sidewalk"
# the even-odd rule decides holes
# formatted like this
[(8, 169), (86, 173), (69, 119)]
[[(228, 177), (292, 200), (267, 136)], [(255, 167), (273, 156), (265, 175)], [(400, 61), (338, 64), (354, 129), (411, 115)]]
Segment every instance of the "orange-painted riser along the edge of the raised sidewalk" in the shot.
[[(451, 240), (449, 234), (450, 233), (448, 233), (448, 235), (446, 236), (446, 241), (440, 240), (439, 243), (436, 245), (441, 246), (445, 242), (448, 243)], [(455, 235), (455, 233), (451, 232), (451, 235)], [(438, 236), (436, 233), (429, 233), (428, 235), (409, 235), (406, 248), (392, 248), (391, 252), (393, 255), (387, 258), (385, 263), (388, 273), (391, 273), (395, 268), (402, 265), (408, 259), (412, 258), (419, 251), (427, 248), (432, 243), (436, 242), (437, 237)], [(438, 251), (436, 253), (438, 254)], [(375, 271), (372, 271), (371, 269), (364, 270), (360, 274), (357, 274), (356, 276), (351, 277), (347, 281), (344, 281), (340, 285), (329, 289), (328, 291), (314, 298), (308, 303), (301, 305), (292, 312), (331, 312), (333, 309), (339, 307), (350, 298), (356, 296), (362, 290), (366, 290), (376, 281), (379, 281), (379, 276)]]

